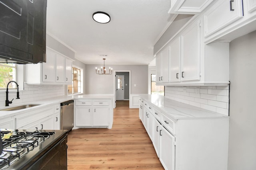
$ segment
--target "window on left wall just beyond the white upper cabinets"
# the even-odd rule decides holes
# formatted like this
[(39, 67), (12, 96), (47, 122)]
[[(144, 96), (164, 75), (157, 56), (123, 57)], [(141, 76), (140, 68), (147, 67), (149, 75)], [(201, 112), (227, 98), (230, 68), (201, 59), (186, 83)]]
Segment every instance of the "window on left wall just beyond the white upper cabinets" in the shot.
[(81, 69), (72, 67), (72, 84), (68, 85), (68, 95), (81, 93)]

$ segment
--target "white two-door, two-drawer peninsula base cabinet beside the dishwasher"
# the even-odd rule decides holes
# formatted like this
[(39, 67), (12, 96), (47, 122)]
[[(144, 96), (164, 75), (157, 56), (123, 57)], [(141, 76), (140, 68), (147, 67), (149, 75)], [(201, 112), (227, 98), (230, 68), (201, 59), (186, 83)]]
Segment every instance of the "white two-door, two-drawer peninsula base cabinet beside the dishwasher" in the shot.
[(75, 100), (75, 127), (111, 127), (110, 100), (77, 99)]

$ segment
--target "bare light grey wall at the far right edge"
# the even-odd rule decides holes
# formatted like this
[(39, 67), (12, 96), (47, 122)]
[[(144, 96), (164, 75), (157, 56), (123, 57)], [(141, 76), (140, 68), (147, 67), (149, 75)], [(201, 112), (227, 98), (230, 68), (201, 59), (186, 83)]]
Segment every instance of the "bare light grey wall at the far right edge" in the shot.
[(230, 42), (228, 170), (256, 170), (256, 31)]

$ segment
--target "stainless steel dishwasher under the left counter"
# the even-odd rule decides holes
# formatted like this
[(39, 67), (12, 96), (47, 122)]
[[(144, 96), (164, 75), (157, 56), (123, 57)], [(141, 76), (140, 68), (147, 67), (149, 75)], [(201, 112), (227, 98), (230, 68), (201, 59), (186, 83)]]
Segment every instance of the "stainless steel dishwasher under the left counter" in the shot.
[(74, 127), (74, 100), (60, 103), (60, 129), (72, 130)]

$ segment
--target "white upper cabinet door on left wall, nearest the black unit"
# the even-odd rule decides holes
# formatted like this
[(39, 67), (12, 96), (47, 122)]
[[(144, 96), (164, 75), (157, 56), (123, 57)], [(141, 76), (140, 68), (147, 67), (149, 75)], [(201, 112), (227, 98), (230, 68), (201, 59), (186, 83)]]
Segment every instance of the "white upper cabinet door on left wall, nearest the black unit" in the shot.
[(46, 63), (43, 63), (43, 82), (55, 82), (55, 59), (56, 53), (47, 48)]

